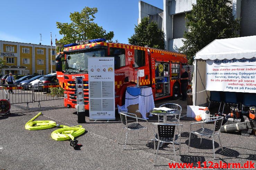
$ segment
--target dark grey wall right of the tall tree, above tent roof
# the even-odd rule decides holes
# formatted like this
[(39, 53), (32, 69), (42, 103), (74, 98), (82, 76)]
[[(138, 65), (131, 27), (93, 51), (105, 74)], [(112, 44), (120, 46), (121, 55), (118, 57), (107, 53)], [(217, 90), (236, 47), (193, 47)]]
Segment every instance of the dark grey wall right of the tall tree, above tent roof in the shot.
[(256, 35), (256, 0), (241, 1), (240, 37)]

